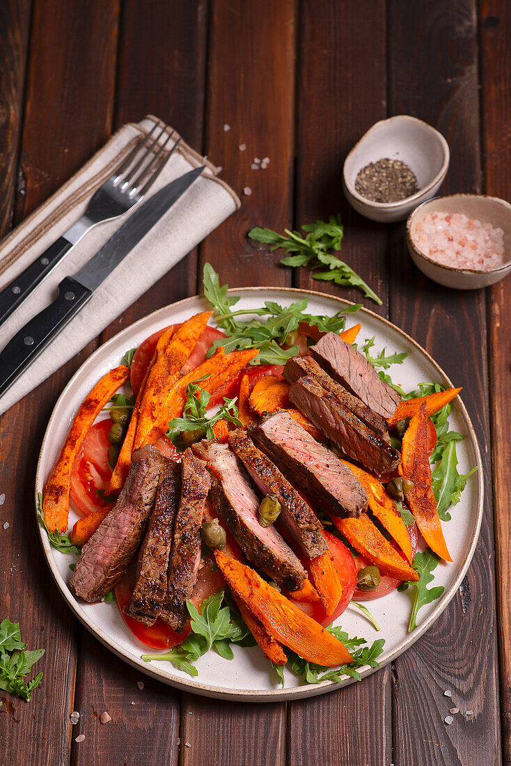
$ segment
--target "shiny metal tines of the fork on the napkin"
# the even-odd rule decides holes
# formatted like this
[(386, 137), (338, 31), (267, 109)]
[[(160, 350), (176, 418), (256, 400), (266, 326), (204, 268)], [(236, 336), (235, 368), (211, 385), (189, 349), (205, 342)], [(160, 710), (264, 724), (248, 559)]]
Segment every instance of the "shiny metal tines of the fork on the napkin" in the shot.
[[(149, 133), (139, 139), (117, 170), (113, 183), (118, 186), (119, 191), (127, 194), (129, 198), (133, 198), (135, 195), (143, 197), (149, 191), (166, 162), (169, 162), (176, 147), (179, 146), (181, 138), (177, 139), (172, 149), (164, 156), (165, 147), (175, 135), (175, 131), (172, 130), (163, 143), (159, 145), (166, 129), (165, 123), (160, 121), (155, 123)], [(157, 135), (152, 138), (155, 133)], [(159, 148), (157, 149), (158, 145)]]

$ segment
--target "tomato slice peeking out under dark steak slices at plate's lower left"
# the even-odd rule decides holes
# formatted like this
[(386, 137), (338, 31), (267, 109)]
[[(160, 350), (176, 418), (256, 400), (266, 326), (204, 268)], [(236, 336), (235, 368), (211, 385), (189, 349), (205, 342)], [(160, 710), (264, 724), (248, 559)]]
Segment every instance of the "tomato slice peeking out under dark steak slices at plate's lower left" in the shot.
[[(212, 554), (209, 554), (205, 558), (204, 566), (199, 569), (197, 575), (197, 582), (192, 593), (190, 601), (195, 604), (198, 611), (201, 611), (202, 602), (205, 598), (212, 596), (221, 588), (224, 584), (224, 576), (221, 571), (215, 568), (215, 558)], [(190, 633), (190, 622), (185, 627), (182, 633), (176, 633), (172, 630), (170, 625), (167, 625), (163, 620), (156, 620), (154, 625), (144, 625), (139, 620), (135, 620), (133, 617), (129, 617), (126, 614), (124, 607), (129, 603), (129, 598), (133, 592), (133, 586), (135, 584), (136, 568), (130, 567), (126, 572), (123, 579), (116, 585), (116, 600), (120, 609), (120, 613), (123, 616), (123, 620), (126, 623), (129, 630), (133, 635), (138, 638), (146, 647), (151, 649), (171, 649), (177, 647), (179, 643), (185, 640)]]

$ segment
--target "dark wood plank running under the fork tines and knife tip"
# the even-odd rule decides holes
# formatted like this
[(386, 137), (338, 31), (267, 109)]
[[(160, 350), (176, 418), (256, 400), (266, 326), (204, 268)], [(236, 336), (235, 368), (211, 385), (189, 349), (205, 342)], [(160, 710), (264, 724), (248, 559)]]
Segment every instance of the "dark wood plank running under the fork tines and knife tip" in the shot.
[[(155, 114), (178, 129), (195, 149), (202, 148), (207, 3), (123, 3), (116, 83), (115, 126)], [(166, 73), (165, 78), (162, 73)], [(194, 250), (152, 286), (101, 335), (101, 342), (155, 309), (195, 293)], [(136, 679), (144, 679), (143, 692)], [(115, 693), (111, 695), (111, 689)], [(149, 696), (149, 704), (148, 702)], [(176, 764), (179, 738), (179, 692), (123, 665), (99, 648), (82, 629), (77, 674), (77, 709), (90, 710), (103, 699), (112, 724), (87, 720), (93, 732), (74, 751), (80, 764)], [(131, 705), (132, 700), (136, 704)], [(96, 703), (95, 703), (96, 706)], [(98, 709), (99, 711), (99, 709)], [(99, 711), (101, 712), (101, 711)], [(85, 732), (85, 730), (84, 730)], [(126, 754), (121, 757), (120, 753)]]

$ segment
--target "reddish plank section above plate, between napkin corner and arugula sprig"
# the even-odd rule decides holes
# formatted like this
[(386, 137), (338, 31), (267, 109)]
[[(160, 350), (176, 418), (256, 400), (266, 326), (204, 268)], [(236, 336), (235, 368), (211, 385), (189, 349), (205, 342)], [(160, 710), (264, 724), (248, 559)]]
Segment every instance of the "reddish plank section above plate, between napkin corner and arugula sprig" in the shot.
[[(252, 226), (281, 231), (292, 221), (294, 15), (291, 0), (221, 0), (211, 17), (207, 153), (242, 207), (204, 242), (200, 263), (209, 261), (233, 287), (290, 285), (278, 254), (246, 235)], [(251, 169), (264, 157), (266, 170)]]

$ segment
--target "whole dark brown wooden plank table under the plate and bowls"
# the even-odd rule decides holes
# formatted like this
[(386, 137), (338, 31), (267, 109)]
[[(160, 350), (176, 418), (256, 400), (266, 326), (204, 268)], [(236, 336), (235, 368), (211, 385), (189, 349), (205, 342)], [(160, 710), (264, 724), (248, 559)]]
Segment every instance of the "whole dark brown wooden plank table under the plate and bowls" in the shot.
[[(246, 186), (253, 192), (241, 211), (0, 420), (0, 619), (19, 620), (29, 646), (46, 647), (43, 683), (30, 704), (0, 692), (0, 763), (511, 764), (511, 282), (473, 293), (444, 290), (411, 264), (402, 224), (365, 221), (341, 188), (342, 160), (359, 136), (378, 119), (408, 113), (436, 126), (449, 142), (443, 193), (511, 198), (506, 5), (0, 3), (2, 233), (116, 128), (146, 113), (165, 119), (222, 165), (238, 192)], [(238, 149), (242, 143), (245, 152)], [(256, 156), (270, 158), (267, 170), (251, 170)], [(247, 229), (260, 224), (281, 231), (338, 211), (346, 224), (342, 257), (382, 296), (376, 310), (464, 386), (486, 483), (472, 565), (434, 627), (362, 683), (287, 705), (212, 702), (149, 678), (139, 691), (140, 673), (74, 619), (41, 552), (33, 483), (48, 417), (93, 349), (153, 309), (196, 293), (205, 261), (231, 286), (312, 286), (306, 270), (283, 269), (280, 254), (247, 241)], [(360, 297), (336, 287), (332, 293)], [(460, 709), (473, 710), (470, 719), (455, 715), (453, 725), (444, 724), (451, 704), (445, 689)], [(82, 715), (80, 744), (74, 741), (78, 727), (69, 723), (74, 709)], [(112, 716), (108, 725), (97, 718), (103, 710)]]

